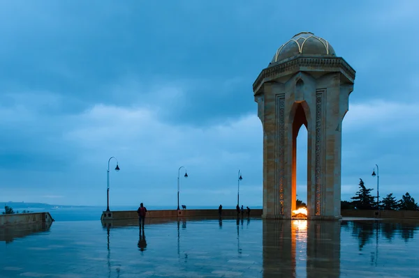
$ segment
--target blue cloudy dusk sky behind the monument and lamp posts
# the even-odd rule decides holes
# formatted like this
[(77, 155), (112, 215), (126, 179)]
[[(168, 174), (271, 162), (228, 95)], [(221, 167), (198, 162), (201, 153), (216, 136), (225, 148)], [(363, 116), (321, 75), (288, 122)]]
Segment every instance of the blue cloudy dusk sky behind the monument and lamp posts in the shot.
[[(262, 204), (252, 84), (295, 33), (357, 71), (343, 124), (342, 199), (359, 178), (419, 199), (417, 1), (1, 1), (0, 201)], [(306, 200), (307, 132), (297, 194)], [(111, 161), (111, 169), (115, 168)], [(184, 172), (181, 173), (181, 176)]]

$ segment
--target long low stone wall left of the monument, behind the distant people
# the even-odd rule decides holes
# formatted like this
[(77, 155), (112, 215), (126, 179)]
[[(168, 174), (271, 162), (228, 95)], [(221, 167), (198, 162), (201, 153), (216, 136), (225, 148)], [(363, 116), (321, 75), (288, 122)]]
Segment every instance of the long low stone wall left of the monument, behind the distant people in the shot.
[[(262, 209), (254, 209), (250, 211), (251, 217), (260, 217), (262, 215)], [(147, 218), (171, 218), (171, 217), (218, 217), (218, 210), (148, 210)], [(237, 216), (236, 210), (224, 210), (222, 213), (223, 217)], [(246, 211), (244, 216), (247, 216)], [(136, 210), (116, 210), (116, 211), (104, 211), (101, 216), (101, 220), (111, 219), (136, 219), (138, 214)]]

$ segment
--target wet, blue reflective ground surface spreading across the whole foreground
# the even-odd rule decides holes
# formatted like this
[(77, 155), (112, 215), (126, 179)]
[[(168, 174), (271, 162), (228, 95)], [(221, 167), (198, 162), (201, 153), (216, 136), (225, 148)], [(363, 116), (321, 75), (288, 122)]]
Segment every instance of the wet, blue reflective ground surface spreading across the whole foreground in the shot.
[[(148, 222), (148, 223), (147, 223)], [(0, 277), (418, 277), (418, 222), (155, 219), (0, 228)]]

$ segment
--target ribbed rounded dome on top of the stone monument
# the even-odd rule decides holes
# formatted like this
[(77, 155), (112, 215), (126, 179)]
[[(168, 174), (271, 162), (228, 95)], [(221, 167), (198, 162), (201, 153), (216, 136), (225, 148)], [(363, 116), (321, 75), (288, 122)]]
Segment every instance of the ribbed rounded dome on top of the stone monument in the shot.
[(314, 33), (301, 32), (278, 48), (271, 63), (276, 63), (298, 54), (336, 56), (335, 49), (327, 40), (314, 36)]

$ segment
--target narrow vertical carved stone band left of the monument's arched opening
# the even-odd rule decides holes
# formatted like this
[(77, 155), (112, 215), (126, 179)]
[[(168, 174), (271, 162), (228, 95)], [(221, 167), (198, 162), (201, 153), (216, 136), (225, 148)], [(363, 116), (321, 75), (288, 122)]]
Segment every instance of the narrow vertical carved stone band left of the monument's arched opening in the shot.
[(285, 95), (277, 95), (276, 103), (276, 141), (275, 141), (275, 185), (279, 193), (279, 215), (284, 215), (284, 176), (285, 176), (285, 146), (284, 146), (284, 125), (285, 125)]

